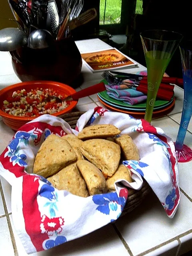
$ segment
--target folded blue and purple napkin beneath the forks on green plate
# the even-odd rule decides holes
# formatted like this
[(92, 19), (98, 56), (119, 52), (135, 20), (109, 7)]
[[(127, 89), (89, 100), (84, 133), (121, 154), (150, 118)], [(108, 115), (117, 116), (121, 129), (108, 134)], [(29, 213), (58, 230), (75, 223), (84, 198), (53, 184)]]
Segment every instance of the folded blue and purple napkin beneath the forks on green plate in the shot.
[(120, 100), (124, 103), (135, 105), (140, 102), (146, 101), (147, 96), (142, 92), (131, 89), (125, 84), (120, 85), (106, 85), (106, 91), (110, 98)]

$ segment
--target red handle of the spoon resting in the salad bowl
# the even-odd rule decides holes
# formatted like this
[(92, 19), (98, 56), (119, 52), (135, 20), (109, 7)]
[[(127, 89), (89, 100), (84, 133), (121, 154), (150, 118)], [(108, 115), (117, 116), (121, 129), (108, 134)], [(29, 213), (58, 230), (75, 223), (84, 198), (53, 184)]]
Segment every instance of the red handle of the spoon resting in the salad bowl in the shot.
[(89, 96), (89, 95), (92, 95), (92, 94), (95, 94), (95, 93), (98, 93), (98, 92), (102, 92), (104, 90), (106, 90), (105, 84), (103, 82), (101, 82), (99, 84), (95, 84), (95, 85), (90, 86), (86, 89), (83, 89), (79, 92), (75, 92), (71, 96), (72, 96), (73, 100), (78, 100), (80, 98), (83, 98), (83, 97), (86, 97), (86, 96)]

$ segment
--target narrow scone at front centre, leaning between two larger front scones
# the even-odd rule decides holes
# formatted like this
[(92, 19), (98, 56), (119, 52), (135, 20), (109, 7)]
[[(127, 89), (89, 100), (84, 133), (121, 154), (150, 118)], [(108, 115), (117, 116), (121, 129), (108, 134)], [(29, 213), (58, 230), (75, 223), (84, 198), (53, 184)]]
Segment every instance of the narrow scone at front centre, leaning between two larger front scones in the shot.
[(107, 192), (105, 178), (94, 164), (87, 160), (79, 160), (76, 166), (85, 180), (90, 196)]

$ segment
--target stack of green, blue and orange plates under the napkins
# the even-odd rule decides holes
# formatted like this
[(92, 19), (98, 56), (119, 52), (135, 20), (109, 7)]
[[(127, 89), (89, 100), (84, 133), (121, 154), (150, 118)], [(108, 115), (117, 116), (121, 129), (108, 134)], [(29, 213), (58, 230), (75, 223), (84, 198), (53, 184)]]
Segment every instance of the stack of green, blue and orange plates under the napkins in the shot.
[[(106, 80), (102, 80), (102, 82), (104, 82), (105, 84), (108, 84), (106, 82)], [(100, 102), (102, 102), (102, 104), (104, 104), (104, 106), (106, 106), (112, 110), (115, 110), (118, 112), (123, 112), (126, 114), (137, 114), (137, 115), (145, 114), (146, 102), (138, 103), (135, 105), (130, 105), (130, 104), (124, 103), (122, 101), (110, 98), (106, 91), (99, 92), (97, 94), (97, 96), (98, 96), (98, 99), (100, 100)], [(166, 111), (170, 110), (174, 106), (174, 104), (175, 104), (174, 96), (171, 98), (170, 101), (160, 100), (157, 98), (155, 101), (155, 104), (154, 104), (153, 114), (159, 114), (159, 113), (166, 112)]]

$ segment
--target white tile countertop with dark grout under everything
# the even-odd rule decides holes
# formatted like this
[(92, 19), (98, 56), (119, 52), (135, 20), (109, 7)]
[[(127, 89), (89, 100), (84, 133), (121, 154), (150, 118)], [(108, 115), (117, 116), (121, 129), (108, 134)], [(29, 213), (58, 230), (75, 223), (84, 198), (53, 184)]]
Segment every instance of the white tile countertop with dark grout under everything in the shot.
[[(99, 39), (76, 42), (80, 52), (110, 48)], [(128, 72), (145, 70), (138, 64)], [(125, 70), (124, 70), (125, 71)], [(85, 65), (82, 67), (84, 83), (81, 90), (102, 80), (101, 72), (93, 74)], [(0, 52), (0, 89), (20, 82), (14, 74), (11, 57)], [(152, 120), (174, 141), (178, 133), (183, 90), (175, 86), (176, 102), (172, 111)], [(86, 111), (103, 106), (96, 95), (79, 100), (76, 110)], [(104, 107), (104, 106), (103, 106)], [(105, 108), (105, 107), (104, 107)], [(0, 154), (14, 135), (0, 119)], [(192, 147), (192, 122), (188, 126), (185, 143)], [(192, 250), (192, 162), (179, 163), (181, 200), (173, 219), (166, 216), (163, 207), (154, 194), (150, 194), (135, 210), (120, 217), (114, 224), (108, 224), (82, 238), (67, 242), (48, 251), (32, 256), (180, 256)], [(12, 224), (11, 186), (0, 178), (0, 256), (26, 256), (26, 252)]]

